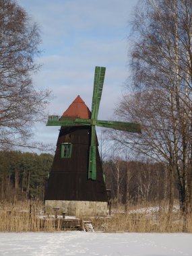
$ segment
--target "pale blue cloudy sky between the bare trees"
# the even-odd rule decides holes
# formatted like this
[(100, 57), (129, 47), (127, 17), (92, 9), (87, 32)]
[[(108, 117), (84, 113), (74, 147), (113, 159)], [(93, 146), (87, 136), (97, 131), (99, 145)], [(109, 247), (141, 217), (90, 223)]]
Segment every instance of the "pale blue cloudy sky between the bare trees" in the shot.
[[(18, 0), (41, 31), (36, 88), (49, 88), (46, 112), (62, 115), (77, 95), (91, 109), (95, 66), (106, 67), (98, 119), (113, 120), (129, 75), (130, 20), (137, 0)], [(59, 127), (36, 124), (34, 139), (57, 142)], [(99, 132), (99, 131), (98, 131)]]

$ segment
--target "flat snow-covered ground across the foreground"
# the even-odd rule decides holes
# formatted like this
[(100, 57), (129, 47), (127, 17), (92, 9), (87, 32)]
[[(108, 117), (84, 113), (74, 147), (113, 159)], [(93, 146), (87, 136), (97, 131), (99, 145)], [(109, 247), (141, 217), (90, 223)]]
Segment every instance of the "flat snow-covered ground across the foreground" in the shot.
[(191, 256), (192, 234), (1, 232), (0, 255)]

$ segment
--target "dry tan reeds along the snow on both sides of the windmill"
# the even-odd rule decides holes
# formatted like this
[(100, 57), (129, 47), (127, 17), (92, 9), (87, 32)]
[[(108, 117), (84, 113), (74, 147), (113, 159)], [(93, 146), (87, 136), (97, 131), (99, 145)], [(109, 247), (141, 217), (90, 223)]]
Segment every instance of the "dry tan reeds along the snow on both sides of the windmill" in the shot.
[[(42, 202), (30, 201), (1, 203), (0, 205), (0, 231), (27, 232), (45, 231), (54, 232), (63, 230), (62, 219), (51, 217), (53, 212), (42, 216), (44, 205)], [(152, 205), (148, 205), (150, 207)], [(137, 212), (143, 205), (132, 205), (127, 214), (123, 207), (114, 210), (112, 216), (92, 217), (92, 225), (96, 231), (103, 232), (192, 232), (192, 216), (183, 218), (178, 211), (168, 216), (166, 207), (160, 207), (156, 212)], [(132, 211), (131, 211), (132, 210)], [(119, 213), (120, 212), (120, 213)], [(88, 218), (86, 218), (88, 220)]]

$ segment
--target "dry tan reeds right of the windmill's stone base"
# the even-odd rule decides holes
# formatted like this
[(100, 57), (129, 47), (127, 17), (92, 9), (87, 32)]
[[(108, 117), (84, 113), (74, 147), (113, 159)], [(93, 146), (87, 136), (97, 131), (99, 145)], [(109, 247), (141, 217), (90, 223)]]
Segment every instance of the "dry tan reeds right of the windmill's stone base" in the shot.
[(93, 218), (96, 231), (103, 232), (192, 232), (192, 216), (183, 220), (180, 214), (169, 219), (162, 214), (115, 214), (111, 218)]

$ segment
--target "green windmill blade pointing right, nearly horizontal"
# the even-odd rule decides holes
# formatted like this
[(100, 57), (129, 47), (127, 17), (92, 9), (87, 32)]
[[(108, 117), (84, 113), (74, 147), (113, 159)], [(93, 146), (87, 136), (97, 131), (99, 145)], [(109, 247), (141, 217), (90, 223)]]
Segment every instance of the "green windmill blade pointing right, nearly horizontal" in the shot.
[(141, 125), (138, 123), (97, 120), (96, 125), (100, 127), (117, 129), (120, 131), (129, 131), (130, 133), (141, 133)]

